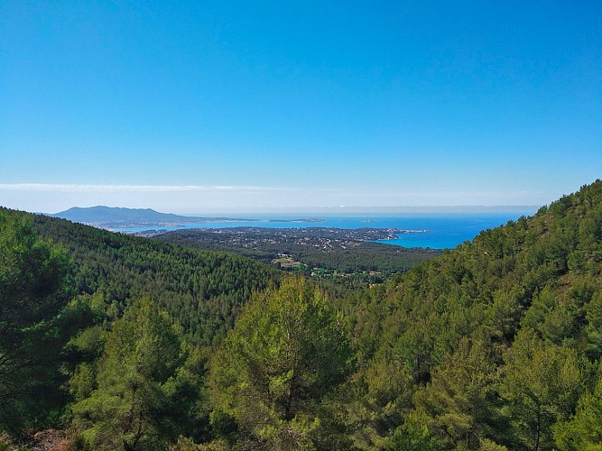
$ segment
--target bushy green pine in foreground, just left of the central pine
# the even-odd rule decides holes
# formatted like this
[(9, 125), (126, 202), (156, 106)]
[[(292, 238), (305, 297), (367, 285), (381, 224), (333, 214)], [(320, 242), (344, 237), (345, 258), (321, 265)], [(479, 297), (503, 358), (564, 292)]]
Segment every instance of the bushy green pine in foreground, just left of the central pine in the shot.
[(135, 303), (114, 322), (98, 364), (97, 388), (72, 407), (74, 424), (95, 447), (166, 446), (177, 437), (169, 412), (180, 366), (181, 343), (171, 319), (147, 299)]

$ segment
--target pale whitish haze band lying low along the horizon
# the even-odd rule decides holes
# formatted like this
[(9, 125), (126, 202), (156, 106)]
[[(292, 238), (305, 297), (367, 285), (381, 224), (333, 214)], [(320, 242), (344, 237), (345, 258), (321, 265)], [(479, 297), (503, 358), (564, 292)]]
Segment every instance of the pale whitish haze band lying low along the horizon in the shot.
[[(62, 186), (33, 184), (0, 184), (12, 194), (15, 205), (5, 205), (25, 211), (57, 213), (70, 207), (153, 208), (157, 211), (187, 215), (222, 213), (395, 213), (412, 211), (532, 211), (540, 204), (511, 204), (511, 199), (499, 193), (472, 193), (480, 203), (463, 204), (466, 193), (380, 193), (379, 198), (366, 202), (366, 193), (317, 189), (262, 189), (259, 187), (132, 187), (132, 186)], [(374, 191), (371, 194), (375, 194)], [(194, 196), (204, 196), (203, 205)], [(290, 203), (295, 198), (296, 202)], [(339, 201), (347, 200), (346, 204)], [(394, 203), (403, 199), (406, 204)], [(442, 199), (449, 199), (441, 205)], [(491, 202), (501, 199), (500, 202)], [(287, 203), (286, 201), (289, 201)], [(554, 200), (554, 199), (551, 199)], [(282, 202), (278, 205), (278, 202)], [(354, 203), (356, 202), (356, 203)], [(413, 203), (412, 203), (413, 202)], [(275, 205), (274, 205), (275, 204)], [(45, 208), (36, 206), (42, 205)], [(30, 206), (30, 207), (28, 207)], [(534, 210), (533, 210), (534, 211)]]

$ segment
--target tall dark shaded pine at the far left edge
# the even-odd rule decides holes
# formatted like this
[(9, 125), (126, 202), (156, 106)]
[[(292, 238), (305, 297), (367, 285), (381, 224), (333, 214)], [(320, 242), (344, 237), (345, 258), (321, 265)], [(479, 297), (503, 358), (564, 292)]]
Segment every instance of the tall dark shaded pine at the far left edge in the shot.
[(60, 404), (67, 267), (28, 218), (0, 210), (0, 428), (32, 426)]

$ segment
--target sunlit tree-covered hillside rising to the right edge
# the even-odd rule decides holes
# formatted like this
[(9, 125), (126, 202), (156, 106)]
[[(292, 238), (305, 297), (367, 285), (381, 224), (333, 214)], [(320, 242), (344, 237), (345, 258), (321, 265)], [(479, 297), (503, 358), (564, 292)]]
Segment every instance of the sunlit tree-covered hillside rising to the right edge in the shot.
[(601, 273), (597, 180), (341, 304), (357, 445), (403, 449), (424, 428), (425, 449), (599, 446)]

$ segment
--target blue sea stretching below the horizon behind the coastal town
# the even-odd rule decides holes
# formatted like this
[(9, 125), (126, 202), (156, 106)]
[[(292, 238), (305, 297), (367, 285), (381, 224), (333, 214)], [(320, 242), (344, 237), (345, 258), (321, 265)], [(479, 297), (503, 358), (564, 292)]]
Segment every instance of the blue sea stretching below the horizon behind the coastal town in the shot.
[[(407, 215), (378, 215), (378, 216), (252, 216), (251, 220), (218, 221), (188, 224), (174, 227), (132, 227), (115, 229), (119, 232), (132, 233), (148, 230), (179, 230), (190, 228), (229, 228), (229, 227), (272, 227), (272, 228), (301, 228), (328, 227), (356, 229), (395, 228), (416, 231), (398, 234), (396, 240), (384, 240), (379, 243), (403, 247), (423, 247), (431, 249), (453, 249), (458, 244), (472, 240), (482, 231), (497, 226), (503, 226), (510, 220), (520, 216), (532, 216), (535, 209), (525, 209), (507, 213), (433, 213)], [(305, 221), (296, 221), (306, 219)], [(308, 221), (309, 219), (310, 221)], [(313, 222), (320, 219), (320, 222)], [(426, 231), (426, 232), (424, 232)]]

